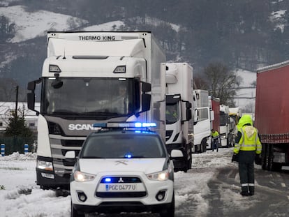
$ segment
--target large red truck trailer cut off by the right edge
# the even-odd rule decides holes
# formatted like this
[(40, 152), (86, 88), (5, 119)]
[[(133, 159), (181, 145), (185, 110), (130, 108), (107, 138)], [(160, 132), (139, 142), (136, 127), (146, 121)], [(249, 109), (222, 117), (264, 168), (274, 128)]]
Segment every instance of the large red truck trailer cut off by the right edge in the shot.
[(257, 70), (255, 127), (262, 142), (262, 169), (289, 169), (289, 61)]

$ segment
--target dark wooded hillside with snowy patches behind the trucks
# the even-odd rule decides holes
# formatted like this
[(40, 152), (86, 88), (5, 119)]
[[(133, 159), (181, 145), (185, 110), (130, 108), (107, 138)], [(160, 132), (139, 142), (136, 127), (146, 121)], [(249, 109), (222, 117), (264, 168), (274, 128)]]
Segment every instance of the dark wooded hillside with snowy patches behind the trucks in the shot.
[(12, 98), (4, 84), (26, 89), (40, 77), (47, 31), (152, 31), (167, 61), (186, 61), (195, 75), (213, 61), (255, 72), (289, 59), (288, 7), (282, 0), (3, 0), (0, 100)]

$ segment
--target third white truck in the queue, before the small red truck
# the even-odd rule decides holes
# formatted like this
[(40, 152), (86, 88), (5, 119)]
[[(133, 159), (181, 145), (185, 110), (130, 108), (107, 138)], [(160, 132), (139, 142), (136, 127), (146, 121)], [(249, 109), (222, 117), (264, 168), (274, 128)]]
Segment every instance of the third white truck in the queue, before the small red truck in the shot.
[(197, 101), (198, 121), (193, 127), (194, 152), (202, 153), (211, 147), (211, 121), (214, 119), (214, 112), (209, 107), (209, 92), (207, 90), (195, 89)]

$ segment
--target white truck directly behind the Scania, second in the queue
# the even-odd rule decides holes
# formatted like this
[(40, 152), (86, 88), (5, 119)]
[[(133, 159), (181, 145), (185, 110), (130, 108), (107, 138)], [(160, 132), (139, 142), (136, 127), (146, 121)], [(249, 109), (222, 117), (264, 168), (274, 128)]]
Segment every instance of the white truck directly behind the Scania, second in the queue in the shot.
[(193, 148), (193, 68), (188, 63), (166, 63), (166, 134), (170, 152), (179, 150), (173, 158), (175, 171), (191, 169)]

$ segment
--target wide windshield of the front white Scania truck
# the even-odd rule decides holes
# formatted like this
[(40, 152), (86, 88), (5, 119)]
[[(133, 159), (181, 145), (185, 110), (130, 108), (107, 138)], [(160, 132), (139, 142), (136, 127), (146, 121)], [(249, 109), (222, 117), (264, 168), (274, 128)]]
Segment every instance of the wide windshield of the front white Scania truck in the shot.
[(61, 77), (59, 80), (62, 85), (53, 87), (55, 78), (44, 78), (41, 98), (44, 114), (121, 117), (138, 106), (140, 90), (133, 79)]

